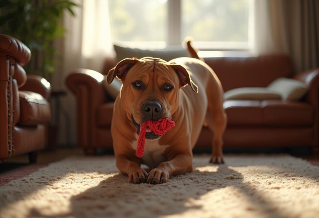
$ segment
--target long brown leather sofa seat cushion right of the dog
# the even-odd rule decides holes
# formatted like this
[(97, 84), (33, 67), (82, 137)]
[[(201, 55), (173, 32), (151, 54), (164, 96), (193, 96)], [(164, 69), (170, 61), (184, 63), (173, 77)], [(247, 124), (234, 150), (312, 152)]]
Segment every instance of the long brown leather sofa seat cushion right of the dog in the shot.
[(281, 100), (227, 100), (228, 126), (310, 126), (314, 111), (305, 102)]

